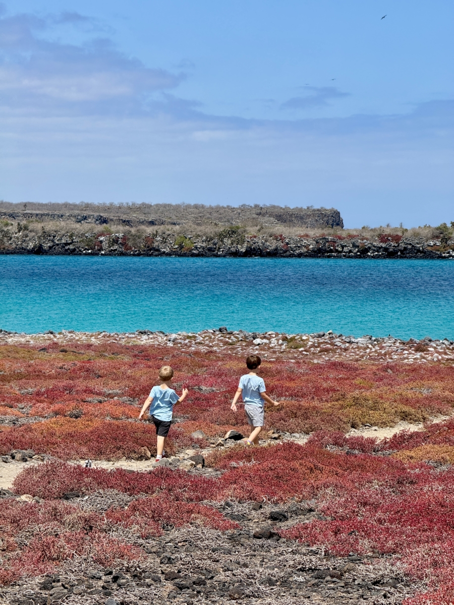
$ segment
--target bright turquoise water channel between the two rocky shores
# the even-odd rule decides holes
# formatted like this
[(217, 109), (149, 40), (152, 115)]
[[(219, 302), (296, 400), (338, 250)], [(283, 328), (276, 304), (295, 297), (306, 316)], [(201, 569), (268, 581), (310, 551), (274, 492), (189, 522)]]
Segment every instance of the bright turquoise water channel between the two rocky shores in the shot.
[(454, 263), (0, 257), (0, 327), (318, 332), (454, 339)]

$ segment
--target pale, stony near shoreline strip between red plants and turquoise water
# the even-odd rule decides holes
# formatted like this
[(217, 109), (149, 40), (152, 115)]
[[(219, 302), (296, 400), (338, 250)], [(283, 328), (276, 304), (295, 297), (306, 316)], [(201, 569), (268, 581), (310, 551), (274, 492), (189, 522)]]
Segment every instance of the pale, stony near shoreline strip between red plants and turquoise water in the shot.
[(410, 338), (404, 341), (389, 335), (375, 338), (365, 335), (360, 338), (328, 332), (313, 334), (285, 334), (278, 332), (245, 332), (220, 327), (202, 332), (164, 333), (161, 331), (137, 330), (129, 333), (74, 332), (52, 330), (44, 334), (25, 334), (0, 330), (0, 345), (31, 345), (46, 350), (47, 345), (58, 344), (71, 347), (72, 344), (102, 344), (119, 342), (120, 344), (143, 344), (174, 347), (182, 353), (211, 352), (215, 355), (229, 353), (247, 356), (251, 352), (259, 353), (263, 359), (304, 359), (314, 363), (327, 361), (369, 361), (369, 362), (405, 362), (427, 363), (441, 362), (453, 364), (454, 340), (432, 339), (426, 336), (422, 340)]

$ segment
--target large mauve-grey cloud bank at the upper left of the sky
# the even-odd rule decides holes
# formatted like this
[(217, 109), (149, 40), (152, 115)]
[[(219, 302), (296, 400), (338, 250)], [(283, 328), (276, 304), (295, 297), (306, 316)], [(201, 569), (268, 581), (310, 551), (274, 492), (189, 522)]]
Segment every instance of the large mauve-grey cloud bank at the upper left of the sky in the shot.
[(87, 21), (79, 13), (62, 13), (56, 18), (0, 18), (1, 104), (16, 111), (46, 108), (50, 112), (96, 113), (104, 109), (130, 113), (140, 111), (153, 93), (175, 88), (185, 77), (145, 67), (139, 59), (120, 53), (107, 38), (71, 45), (42, 37), (56, 22), (78, 25)]

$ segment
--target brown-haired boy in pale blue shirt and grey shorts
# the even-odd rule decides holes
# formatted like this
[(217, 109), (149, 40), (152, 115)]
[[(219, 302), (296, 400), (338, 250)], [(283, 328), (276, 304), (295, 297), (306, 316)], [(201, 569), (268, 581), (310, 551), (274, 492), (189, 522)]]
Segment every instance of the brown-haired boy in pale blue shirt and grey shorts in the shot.
[(232, 401), (231, 410), (237, 411), (237, 401), (242, 396), (245, 404), (246, 417), (251, 427), (254, 430), (246, 439), (248, 445), (258, 445), (258, 436), (262, 432), (263, 425), (265, 424), (265, 401), (269, 404), (277, 407), (279, 402), (273, 401), (271, 397), (266, 394), (265, 382), (263, 378), (257, 376), (255, 370), (260, 367), (262, 359), (258, 355), (249, 355), (246, 359), (246, 365), (248, 367), (249, 374), (244, 374), (240, 378), (240, 384), (237, 388), (237, 392)]

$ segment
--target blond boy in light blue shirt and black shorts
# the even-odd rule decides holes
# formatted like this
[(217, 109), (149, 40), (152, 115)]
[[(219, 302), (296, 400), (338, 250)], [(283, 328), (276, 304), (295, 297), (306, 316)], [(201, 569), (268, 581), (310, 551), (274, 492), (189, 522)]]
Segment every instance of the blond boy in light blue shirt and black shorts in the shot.
[(169, 365), (163, 365), (159, 370), (159, 387), (153, 387), (150, 395), (140, 410), (139, 420), (148, 407), (150, 407), (150, 419), (156, 427), (157, 456), (156, 462), (159, 462), (165, 456), (165, 441), (169, 434), (169, 428), (172, 421), (172, 412), (175, 404), (180, 404), (188, 394), (188, 389), (183, 388), (183, 394), (179, 397), (171, 388), (173, 378), (173, 369)]

